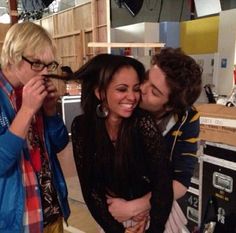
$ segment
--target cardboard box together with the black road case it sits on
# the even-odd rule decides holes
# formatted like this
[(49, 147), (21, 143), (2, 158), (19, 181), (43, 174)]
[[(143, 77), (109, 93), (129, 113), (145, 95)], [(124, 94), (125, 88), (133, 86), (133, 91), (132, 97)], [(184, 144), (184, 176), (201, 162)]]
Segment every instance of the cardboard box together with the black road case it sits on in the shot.
[(203, 230), (211, 221), (214, 233), (235, 233), (236, 108), (203, 104), (198, 111), (200, 139), (205, 142), (200, 157), (199, 225)]

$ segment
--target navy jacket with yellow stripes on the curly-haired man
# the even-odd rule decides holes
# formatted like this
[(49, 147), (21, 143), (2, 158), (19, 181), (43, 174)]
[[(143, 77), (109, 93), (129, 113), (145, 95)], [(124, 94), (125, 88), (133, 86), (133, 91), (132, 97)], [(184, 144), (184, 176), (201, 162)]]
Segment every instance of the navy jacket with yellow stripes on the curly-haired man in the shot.
[(192, 107), (182, 116), (172, 116), (166, 131), (163, 134), (173, 161), (173, 179), (189, 187), (198, 161), (199, 113)]

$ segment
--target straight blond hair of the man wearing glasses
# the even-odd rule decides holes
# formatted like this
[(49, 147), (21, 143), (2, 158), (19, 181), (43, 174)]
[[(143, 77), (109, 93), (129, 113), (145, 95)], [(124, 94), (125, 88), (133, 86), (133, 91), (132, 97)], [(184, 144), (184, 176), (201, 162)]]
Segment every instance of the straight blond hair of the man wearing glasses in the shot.
[(8, 30), (1, 54), (2, 68), (18, 64), (22, 56), (40, 55), (50, 51), (56, 57), (56, 46), (51, 35), (41, 26), (32, 22), (17, 23)]

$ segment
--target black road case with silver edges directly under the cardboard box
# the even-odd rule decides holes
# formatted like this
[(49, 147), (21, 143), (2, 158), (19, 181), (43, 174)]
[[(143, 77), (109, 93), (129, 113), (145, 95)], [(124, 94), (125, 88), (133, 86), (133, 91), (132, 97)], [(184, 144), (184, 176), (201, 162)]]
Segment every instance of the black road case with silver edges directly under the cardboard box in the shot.
[(236, 233), (236, 147), (207, 142), (203, 152), (201, 231), (215, 222), (214, 233)]

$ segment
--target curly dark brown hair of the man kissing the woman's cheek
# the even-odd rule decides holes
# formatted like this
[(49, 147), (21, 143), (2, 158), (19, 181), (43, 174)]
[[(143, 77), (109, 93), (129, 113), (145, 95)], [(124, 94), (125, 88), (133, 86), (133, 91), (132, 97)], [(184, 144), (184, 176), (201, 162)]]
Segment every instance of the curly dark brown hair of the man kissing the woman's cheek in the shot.
[(193, 105), (202, 90), (202, 68), (180, 48), (164, 48), (153, 56), (152, 65), (157, 65), (166, 76), (170, 88), (167, 106), (181, 113)]

